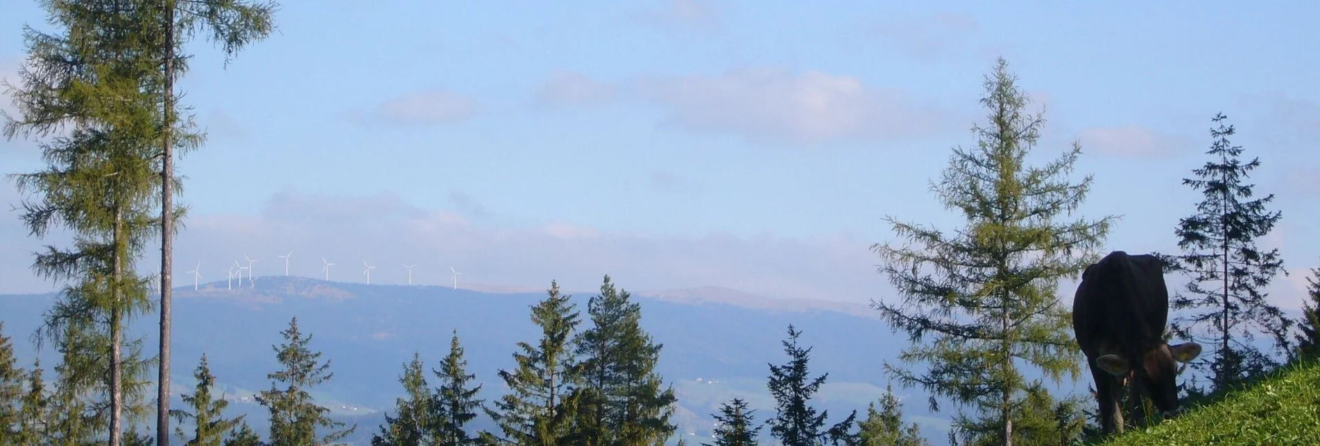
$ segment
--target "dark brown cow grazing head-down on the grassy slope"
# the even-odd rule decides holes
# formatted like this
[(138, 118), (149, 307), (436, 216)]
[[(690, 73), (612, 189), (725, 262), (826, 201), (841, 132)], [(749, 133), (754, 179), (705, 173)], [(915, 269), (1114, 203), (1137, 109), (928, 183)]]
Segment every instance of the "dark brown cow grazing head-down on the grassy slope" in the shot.
[(1170, 346), (1163, 338), (1167, 322), (1168, 289), (1159, 257), (1114, 251), (1082, 272), (1073, 296), (1073, 333), (1096, 381), (1105, 434), (1123, 433), (1118, 397), (1125, 384), (1133, 387), (1133, 397), (1150, 397), (1166, 417), (1183, 412), (1175, 360), (1196, 359), (1201, 346)]

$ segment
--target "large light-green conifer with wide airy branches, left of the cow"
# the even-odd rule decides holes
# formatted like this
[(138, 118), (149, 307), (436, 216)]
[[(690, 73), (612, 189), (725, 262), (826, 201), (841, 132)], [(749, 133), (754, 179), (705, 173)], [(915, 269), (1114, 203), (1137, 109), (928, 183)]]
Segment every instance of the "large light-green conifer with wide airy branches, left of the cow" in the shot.
[[(977, 148), (954, 148), (941, 181), (932, 183), (966, 227), (949, 234), (887, 218), (898, 236), (921, 247), (873, 245), (883, 259), (880, 271), (903, 297), (873, 306), (895, 331), (908, 334), (912, 344), (899, 359), (925, 364), (916, 373), (886, 363), (892, 377), (928, 391), (933, 410), (935, 397), (948, 397), (1011, 420), (1012, 402), (1027, 387), (1020, 367), (1055, 381), (1064, 375), (1076, 380), (1082, 362), (1059, 281), (1097, 259), (1113, 216), (1059, 222), (1090, 189), (1090, 175), (1080, 183), (1061, 178), (1081, 146), (1028, 166), (1043, 115), (1028, 113), (1028, 98), (1002, 58), (985, 88), (989, 127), (975, 127)], [(1007, 422), (1001, 441), (1012, 445), (1012, 438)]]

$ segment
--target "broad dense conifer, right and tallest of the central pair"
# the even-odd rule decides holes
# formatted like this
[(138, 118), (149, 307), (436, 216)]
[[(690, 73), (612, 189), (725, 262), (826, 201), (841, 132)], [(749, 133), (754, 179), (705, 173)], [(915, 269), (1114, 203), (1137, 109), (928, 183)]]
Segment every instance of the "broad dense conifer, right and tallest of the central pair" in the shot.
[(642, 326), (642, 306), (605, 276), (587, 303), (591, 329), (577, 336), (577, 429), (581, 445), (655, 445), (677, 429), (673, 389), (655, 373), (661, 346)]

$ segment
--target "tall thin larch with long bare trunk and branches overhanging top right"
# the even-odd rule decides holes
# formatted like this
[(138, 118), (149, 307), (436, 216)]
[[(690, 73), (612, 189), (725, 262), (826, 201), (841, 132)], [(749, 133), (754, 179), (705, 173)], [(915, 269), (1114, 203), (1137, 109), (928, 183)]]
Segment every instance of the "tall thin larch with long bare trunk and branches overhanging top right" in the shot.
[(244, 46), (264, 40), (275, 29), (273, 15), (277, 4), (243, 0), (160, 0), (143, 1), (140, 11), (144, 22), (157, 24), (157, 32), (150, 36), (158, 40), (150, 46), (157, 57), (161, 124), (160, 124), (160, 368), (157, 369), (157, 446), (169, 446), (169, 376), (170, 376), (170, 298), (173, 288), (173, 236), (174, 223), (181, 216), (176, 210), (174, 195), (178, 177), (174, 172), (176, 150), (195, 149), (203, 135), (193, 132), (191, 120), (181, 121), (178, 98), (174, 82), (187, 71), (189, 55), (183, 45), (198, 32), (207, 30), (213, 41), (219, 42), (228, 63)]

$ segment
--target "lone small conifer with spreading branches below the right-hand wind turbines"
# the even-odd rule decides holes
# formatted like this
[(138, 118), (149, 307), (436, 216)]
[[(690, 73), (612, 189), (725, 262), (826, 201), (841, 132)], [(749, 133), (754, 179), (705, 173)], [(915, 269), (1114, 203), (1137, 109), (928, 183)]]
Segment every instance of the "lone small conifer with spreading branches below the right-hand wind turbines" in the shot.
[[(330, 409), (317, 405), (309, 392), (334, 376), (330, 372), (330, 360), (318, 363), (321, 352), (308, 347), (313, 336), (310, 334), (302, 336), (298, 331), (298, 318), (290, 319), (289, 327), (281, 334), (286, 343), (272, 348), (282, 368), (267, 375), (271, 389), (261, 391), (256, 397), (256, 401), (271, 412), (271, 446), (319, 446), (343, 439), (356, 430), (358, 425), (338, 430), (345, 424), (331, 420), (327, 416)], [(281, 384), (284, 389), (280, 389)], [(318, 439), (317, 428), (330, 431)]]

